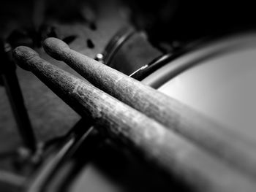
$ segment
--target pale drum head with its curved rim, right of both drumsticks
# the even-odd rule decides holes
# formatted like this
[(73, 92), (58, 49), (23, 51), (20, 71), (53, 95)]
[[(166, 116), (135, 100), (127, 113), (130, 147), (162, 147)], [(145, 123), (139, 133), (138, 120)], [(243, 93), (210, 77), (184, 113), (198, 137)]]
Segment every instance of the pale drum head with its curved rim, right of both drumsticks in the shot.
[(256, 137), (256, 34), (211, 42), (142, 82), (227, 128)]

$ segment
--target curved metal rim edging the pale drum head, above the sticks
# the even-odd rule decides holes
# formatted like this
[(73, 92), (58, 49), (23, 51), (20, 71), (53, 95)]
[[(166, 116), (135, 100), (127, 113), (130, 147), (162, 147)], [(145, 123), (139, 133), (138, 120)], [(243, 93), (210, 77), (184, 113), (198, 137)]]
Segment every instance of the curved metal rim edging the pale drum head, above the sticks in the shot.
[[(218, 55), (231, 53), (235, 50), (242, 50), (244, 47), (252, 45), (256, 45), (255, 31), (233, 34), (205, 42), (200, 46), (195, 46), (194, 50), (190, 49), (187, 52), (183, 52), (184, 54), (179, 54), (173, 60), (171, 59), (172, 55), (169, 53), (169, 56), (165, 59), (167, 63), (163, 65), (160, 62), (159, 68), (143, 77), (141, 82), (157, 89), (178, 74), (193, 66), (197, 66), (199, 63), (201, 64), (202, 61), (217, 57)], [(145, 69), (147, 67), (143, 66), (142, 69), (138, 69), (136, 72), (140, 72), (140, 70), (145, 71)], [(135, 76), (136, 72), (131, 77)]]

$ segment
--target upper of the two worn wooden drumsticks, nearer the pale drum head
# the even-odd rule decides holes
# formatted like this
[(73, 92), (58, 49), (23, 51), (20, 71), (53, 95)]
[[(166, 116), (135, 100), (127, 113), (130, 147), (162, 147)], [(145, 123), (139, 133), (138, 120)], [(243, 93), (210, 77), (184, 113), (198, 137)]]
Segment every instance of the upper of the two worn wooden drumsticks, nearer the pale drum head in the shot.
[(255, 141), (248, 141), (242, 135), (219, 126), (175, 99), (71, 50), (59, 39), (46, 39), (44, 48), (53, 58), (66, 62), (102, 91), (256, 176)]

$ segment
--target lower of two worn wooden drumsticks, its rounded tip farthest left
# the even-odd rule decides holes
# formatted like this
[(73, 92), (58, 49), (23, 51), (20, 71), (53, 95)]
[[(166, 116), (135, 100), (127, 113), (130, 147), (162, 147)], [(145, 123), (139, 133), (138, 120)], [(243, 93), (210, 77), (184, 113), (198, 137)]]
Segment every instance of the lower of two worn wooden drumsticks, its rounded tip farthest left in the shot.
[(255, 191), (252, 177), (231, 168), (89, 82), (49, 64), (31, 48), (16, 48), (14, 57), (21, 67), (33, 72), (80, 115), (94, 119), (96, 127), (102, 127), (99, 131), (138, 150), (138, 154), (197, 191)]

